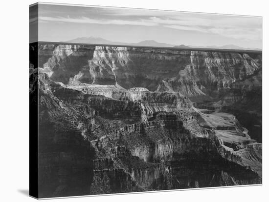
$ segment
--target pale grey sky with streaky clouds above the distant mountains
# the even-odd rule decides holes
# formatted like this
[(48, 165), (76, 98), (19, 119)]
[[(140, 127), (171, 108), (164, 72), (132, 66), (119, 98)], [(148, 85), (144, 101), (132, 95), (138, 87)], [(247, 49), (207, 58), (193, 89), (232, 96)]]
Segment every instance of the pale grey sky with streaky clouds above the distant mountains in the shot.
[[(261, 17), (56, 4), (39, 4), (38, 9), (39, 41), (99, 37), (127, 43), (262, 48)], [(30, 19), (30, 27), (35, 20)]]

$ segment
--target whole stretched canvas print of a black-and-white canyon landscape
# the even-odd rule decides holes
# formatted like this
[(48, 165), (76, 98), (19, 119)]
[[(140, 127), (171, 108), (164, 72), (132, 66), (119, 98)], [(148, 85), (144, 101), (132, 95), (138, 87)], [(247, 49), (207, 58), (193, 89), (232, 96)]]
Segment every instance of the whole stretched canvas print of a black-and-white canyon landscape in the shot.
[(30, 196), (262, 183), (262, 18), (30, 5)]

